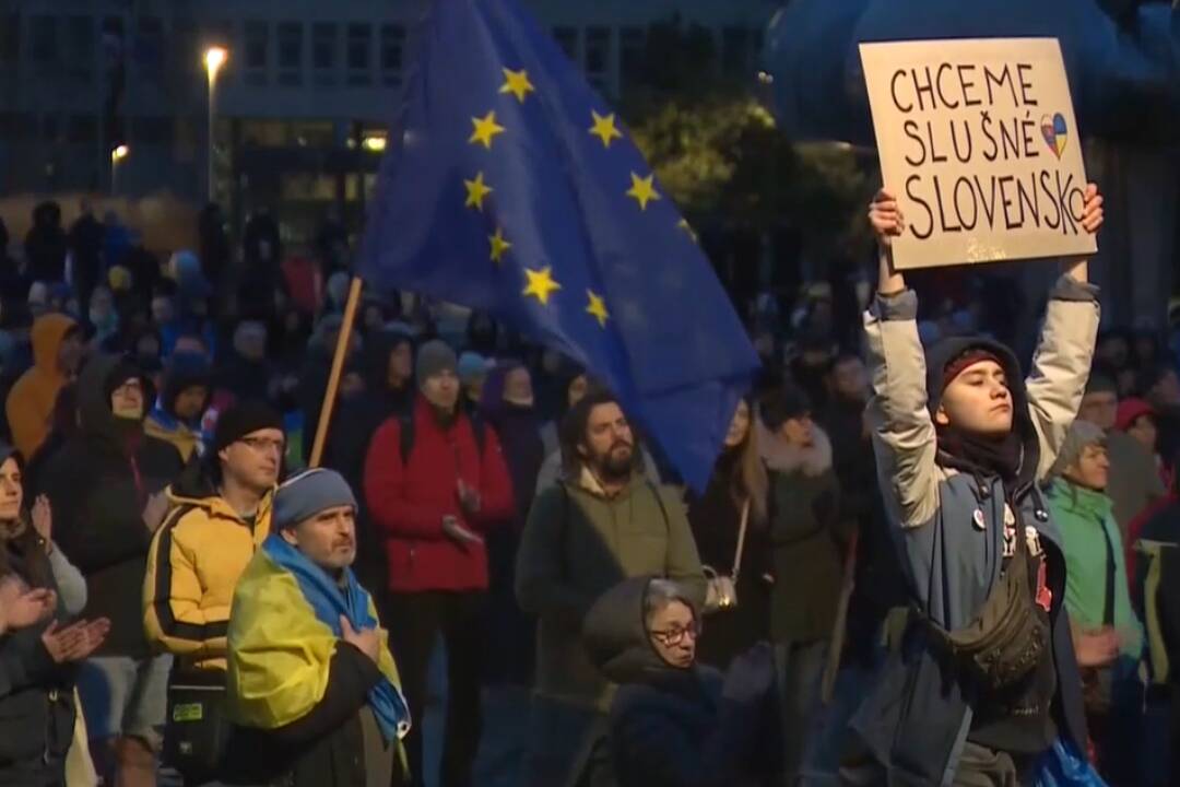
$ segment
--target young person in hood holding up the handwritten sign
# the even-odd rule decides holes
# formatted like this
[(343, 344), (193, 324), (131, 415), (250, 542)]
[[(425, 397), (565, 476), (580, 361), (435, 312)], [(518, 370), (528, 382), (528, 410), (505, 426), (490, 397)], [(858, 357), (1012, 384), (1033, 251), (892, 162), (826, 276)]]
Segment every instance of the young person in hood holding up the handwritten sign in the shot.
[[(1045, 752), (1083, 756), (1088, 740), (1077, 655), (1084, 665), (1090, 654), (1075, 655), (1063, 538), (1037, 481), (1081, 405), (1097, 290), (1086, 260), (1064, 265), (1027, 381), (983, 337), (924, 358), (917, 297), (892, 264), (898, 201), (881, 190), (868, 217), (880, 245), (865, 315), (870, 418), (913, 614), (852, 720), (860, 746), (845, 782), (1034, 783)], [(1080, 224), (1102, 224), (1096, 186)]]

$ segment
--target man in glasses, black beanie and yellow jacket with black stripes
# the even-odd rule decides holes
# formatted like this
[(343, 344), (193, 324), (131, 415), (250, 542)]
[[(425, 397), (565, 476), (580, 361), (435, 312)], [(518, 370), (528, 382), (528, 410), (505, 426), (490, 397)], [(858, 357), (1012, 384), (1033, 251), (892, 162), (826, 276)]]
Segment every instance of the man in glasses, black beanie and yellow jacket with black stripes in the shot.
[(144, 628), (155, 648), (176, 658), (164, 753), (186, 786), (216, 775), (225, 732), (221, 711), (230, 602), (270, 534), (286, 447), (282, 426), (282, 417), (262, 402), (244, 401), (223, 413), (212, 450), (169, 488), (173, 507), (152, 539)]

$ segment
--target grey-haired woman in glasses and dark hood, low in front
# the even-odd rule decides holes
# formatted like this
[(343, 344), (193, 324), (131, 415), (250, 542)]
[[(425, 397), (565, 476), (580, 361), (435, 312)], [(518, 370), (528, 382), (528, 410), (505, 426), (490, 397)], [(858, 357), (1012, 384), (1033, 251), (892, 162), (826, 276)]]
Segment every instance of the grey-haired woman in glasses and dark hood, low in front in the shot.
[(583, 642), (620, 687), (609, 722), (618, 787), (784, 783), (771, 648), (742, 654), (722, 677), (696, 661), (703, 625), (669, 579), (628, 579), (590, 608)]

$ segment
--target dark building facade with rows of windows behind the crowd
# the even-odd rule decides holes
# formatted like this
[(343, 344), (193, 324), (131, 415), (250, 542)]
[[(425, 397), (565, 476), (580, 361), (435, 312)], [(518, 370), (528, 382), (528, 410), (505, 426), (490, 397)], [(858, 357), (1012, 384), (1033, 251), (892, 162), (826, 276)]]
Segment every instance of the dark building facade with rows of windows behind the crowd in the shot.
[[(455, 1), (455, 0), (446, 0)], [(491, 1), (491, 0), (489, 0)], [(756, 71), (769, 0), (525, 0), (605, 96), (648, 27), (709, 31), (717, 68)], [(354, 227), (428, 0), (0, 0), (0, 195), (210, 191), (307, 227)], [(203, 53), (229, 60), (214, 90)], [(112, 151), (126, 146), (122, 158)]]

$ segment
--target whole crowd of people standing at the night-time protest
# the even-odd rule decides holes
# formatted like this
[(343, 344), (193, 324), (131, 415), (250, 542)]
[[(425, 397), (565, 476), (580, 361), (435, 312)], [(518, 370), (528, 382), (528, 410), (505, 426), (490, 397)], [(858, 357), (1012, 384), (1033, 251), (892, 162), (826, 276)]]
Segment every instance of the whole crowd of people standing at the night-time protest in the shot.
[(1180, 774), (1180, 376), (1084, 263), (1022, 359), (919, 311), (878, 195), (876, 295), (743, 307), (766, 366), (691, 490), (592, 370), (400, 295), (306, 470), (339, 224), (308, 263), (211, 205), (162, 264), (60, 216), (0, 234), (2, 783), (422, 785), (440, 657), (444, 787)]

